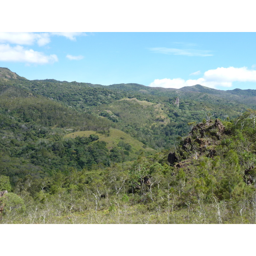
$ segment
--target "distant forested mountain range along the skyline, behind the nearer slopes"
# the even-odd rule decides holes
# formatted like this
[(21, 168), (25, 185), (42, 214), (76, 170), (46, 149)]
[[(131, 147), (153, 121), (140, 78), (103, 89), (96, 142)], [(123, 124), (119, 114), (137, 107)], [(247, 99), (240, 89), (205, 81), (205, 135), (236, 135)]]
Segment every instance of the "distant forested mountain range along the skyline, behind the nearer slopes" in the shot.
[[(41, 95), (67, 108), (106, 119), (117, 128), (160, 150), (169, 148), (177, 137), (189, 132), (190, 122), (201, 122), (207, 114), (226, 119), (239, 116), (241, 111), (255, 108), (254, 90), (247, 95), (237, 90), (215, 90), (199, 84), (180, 89), (147, 87), (142, 84), (100, 84), (27, 80), (2, 68), (2, 82), (14, 92)], [(16, 89), (15, 89), (16, 88)], [(7, 89), (5, 89), (7, 90)]]

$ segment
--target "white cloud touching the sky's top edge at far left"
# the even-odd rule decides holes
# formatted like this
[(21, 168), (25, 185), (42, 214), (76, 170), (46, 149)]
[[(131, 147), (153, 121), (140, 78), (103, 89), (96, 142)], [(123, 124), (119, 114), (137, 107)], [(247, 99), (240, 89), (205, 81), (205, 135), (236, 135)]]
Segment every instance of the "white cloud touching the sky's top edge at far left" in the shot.
[(44, 46), (50, 42), (49, 33), (0, 32), (0, 43)]

